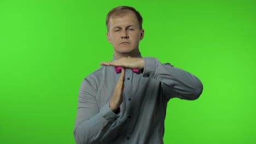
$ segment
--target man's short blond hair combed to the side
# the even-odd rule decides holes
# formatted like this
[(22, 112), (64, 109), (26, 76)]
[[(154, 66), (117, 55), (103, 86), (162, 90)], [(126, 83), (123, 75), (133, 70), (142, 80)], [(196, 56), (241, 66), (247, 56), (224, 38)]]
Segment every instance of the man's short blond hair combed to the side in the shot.
[(139, 12), (135, 8), (128, 7), (128, 6), (119, 6), (119, 7), (113, 8), (112, 10), (110, 10), (108, 12), (107, 19), (106, 19), (107, 29), (109, 30), (108, 22), (109, 22), (109, 19), (111, 16), (123, 16), (123, 15), (129, 13), (130, 11), (132, 11), (136, 15), (138, 23), (139, 23), (139, 28), (142, 29), (143, 19), (142, 19), (141, 14), (139, 14)]

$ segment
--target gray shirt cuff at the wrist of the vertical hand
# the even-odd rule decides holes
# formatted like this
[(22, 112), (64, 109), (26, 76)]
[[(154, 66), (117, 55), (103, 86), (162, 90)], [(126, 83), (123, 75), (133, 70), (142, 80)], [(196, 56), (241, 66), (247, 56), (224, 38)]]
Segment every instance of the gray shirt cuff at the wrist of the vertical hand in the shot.
[(100, 113), (101, 116), (109, 122), (114, 122), (119, 117), (119, 115), (109, 109), (108, 103), (100, 109)]

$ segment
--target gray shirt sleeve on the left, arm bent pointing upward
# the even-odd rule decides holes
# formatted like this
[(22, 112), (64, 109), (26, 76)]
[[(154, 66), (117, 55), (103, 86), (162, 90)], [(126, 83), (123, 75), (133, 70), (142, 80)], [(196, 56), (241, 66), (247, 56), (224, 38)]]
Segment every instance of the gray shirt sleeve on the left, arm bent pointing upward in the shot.
[(74, 139), (77, 144), (96, 143), (119, 117), (109, 109), (108, 103), (98, 108), (96, 93), (97, 83), (86, 77), (80, 86), (75, 119)]

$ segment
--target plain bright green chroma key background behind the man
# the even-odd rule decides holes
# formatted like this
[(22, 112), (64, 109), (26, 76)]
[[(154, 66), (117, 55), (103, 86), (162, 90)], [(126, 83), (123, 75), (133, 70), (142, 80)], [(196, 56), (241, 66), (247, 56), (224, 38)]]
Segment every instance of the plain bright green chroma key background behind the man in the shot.
[[(80, 83), (110, 61), (108, 11), (143, 16), (143, 57), (203, 83), (171, 99), (165, 143), (256, 143), (255, 1), (0, 1), (0, 143), (75, 143)], [(121, 133), (121, 132), (120, 132)]]

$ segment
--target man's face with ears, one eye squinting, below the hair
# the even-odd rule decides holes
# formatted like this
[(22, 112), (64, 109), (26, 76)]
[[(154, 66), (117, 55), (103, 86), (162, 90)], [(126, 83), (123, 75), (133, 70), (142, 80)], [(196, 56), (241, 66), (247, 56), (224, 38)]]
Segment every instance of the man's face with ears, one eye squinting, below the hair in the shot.
[(131, 11), (124, 16), (110, 17), (107, 38), (114, 47), (115, 55), (135, 53), (139, 41), (144, 37), (144, 30), (139, 29), (136, 15)]

